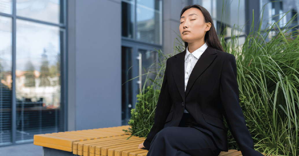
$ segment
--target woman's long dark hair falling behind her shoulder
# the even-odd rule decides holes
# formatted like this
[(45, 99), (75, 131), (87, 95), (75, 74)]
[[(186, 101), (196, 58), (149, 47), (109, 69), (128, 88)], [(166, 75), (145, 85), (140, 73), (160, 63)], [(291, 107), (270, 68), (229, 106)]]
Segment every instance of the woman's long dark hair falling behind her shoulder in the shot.
[[(211, 17), (211, 15), (210, 15), (210, 13), (208, 12), (207, 9), (205, 9), (204, 7), (202, 7), (200, 5), (197, 5), (197, 4), (196, 5), (189, 5), (189, 6), (183, 8), (183, 10), (181, 11), (181, 16), (183, 15), (183, 13), (186, 10), (188, 10), (190, 8), (193, 8), (193, 7), (199, 9), (202, 12), (202, 14), (204, 15), (204, 19), (205, 19), (206, 23), (208, 23), (208, 22), (211, 23), (210, 30), (207, 31), (206, 34), (205, 34), (205, 42), (207, 43), (208, 47), (212, 47), (214, 49), (224, 51), (223, 47), (221, 46), (221, 43), (219, 41), (219, 38), (217, 36), (216, 29), (214, 27), (212, 17)], [(187, 46), (188, 46), (188, 42), (185, 42), (185, 48), (187, 48)]]

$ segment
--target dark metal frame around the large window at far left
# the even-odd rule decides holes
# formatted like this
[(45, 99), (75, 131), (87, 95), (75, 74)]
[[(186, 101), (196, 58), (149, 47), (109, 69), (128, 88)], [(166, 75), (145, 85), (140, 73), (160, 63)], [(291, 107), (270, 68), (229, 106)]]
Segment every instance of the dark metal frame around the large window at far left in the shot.
[[(22, 144), (22, 143), (30, 143), (32, 141), (26, 141), (22, 143), (16, 143), (16, 20), (17, 19), (22, 19), (25, 21), (31, 21), (39, 24), (45, 24), (49, 26), (56, 26), (60, 28), (60, 32), (63, 32), (63, 34), (60, 35), (60, 40), (63, 45), (60, 45), (62, 51), (60, 51), (60, 61), (61, 61), (61, 66), (60, 66), (60, 73), (61, 73), (61, 95), (60, 95), (60, 110), (61, 114), (59, 115), (60, 120), (62, 121), (59, 122), (59, 127), (61, 128), (60, 130), (65, 131), (67, 130), (67, 55), (68, 55), (68, 23), (67, 23), (67, 17), (68, 17), (68, 12), (67, 12), (67, 5), (68, 1), (67, 0), (60, 0), (60, 17), (63, 17), (63, 23), (51, 23), (51, 22), (46, 22), (46, 21), (41, 21), (41, 20), (36, 20), (32, 18), (26, 18), (22, 16), (17, 16), (16, 15), (16, 1), (17, 0), (12, 0), (12, 13), (7, 14), (7, 13), (1, 13), (0, 16), (4, 17), (10, 17), (12, 18), (12, 69), (11, 69), (11, 75), (12, 75), (12, 99), (11, 99), (11, 140), (10, 143), (7, 143), (5, 145), (0, 145), (2, 146), (10, 146), (10, 145), (17, 145), (17, 144)], [(63, 14), (63, 15), (62, 15)]]

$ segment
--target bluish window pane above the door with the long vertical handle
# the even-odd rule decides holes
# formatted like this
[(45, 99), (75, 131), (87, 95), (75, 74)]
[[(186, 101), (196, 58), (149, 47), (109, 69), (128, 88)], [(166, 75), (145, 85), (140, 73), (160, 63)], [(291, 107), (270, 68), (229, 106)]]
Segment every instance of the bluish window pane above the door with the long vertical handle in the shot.
[(161, 0), (137, 1), (137, 40), (162, 44), (161, 8)]

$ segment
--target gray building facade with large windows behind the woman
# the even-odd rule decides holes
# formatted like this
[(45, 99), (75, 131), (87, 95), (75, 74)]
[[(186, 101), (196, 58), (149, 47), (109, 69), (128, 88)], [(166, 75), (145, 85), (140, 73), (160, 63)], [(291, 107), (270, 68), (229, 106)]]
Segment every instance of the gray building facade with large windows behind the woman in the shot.
[(266, 28), (299, 11), (297, 0), (0, 0), (0, 146), (127, 125), (138, 76), (155, 50), (173, 53), (180, 11), (191, 4), (210, 12), (226, 41), (237, 28), (240, 44), (260, 13)]

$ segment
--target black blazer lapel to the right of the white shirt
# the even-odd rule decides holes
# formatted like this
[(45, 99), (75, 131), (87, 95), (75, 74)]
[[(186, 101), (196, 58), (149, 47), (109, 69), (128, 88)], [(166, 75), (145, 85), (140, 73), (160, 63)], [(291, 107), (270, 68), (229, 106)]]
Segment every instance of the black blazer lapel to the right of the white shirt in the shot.
[[(210, 64), (214, 61), (216, 56), (217, 56), (216, 50), (213, 49), (213, 48), (210, 48), (210, 47), (208, 47), (202, 53), (202, 55), (200, 56), (200, 58), (196, 62), (194, 68), (192, 69), (192, 72), (191, 72), (190, 77), (188, 79), (185, 96), (188, 95), (188, 93), (189, 93), (191, 87), (193, 86), (194, 82), (196, 81), (196, 79), (202, 74), (202, 72), (205, 71), (205, 69), (207, 69), (210, 66)], [(183, 79), (184, 79), (184, 76), (183, 76)]]

